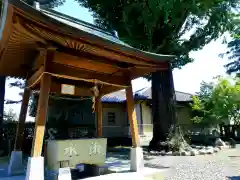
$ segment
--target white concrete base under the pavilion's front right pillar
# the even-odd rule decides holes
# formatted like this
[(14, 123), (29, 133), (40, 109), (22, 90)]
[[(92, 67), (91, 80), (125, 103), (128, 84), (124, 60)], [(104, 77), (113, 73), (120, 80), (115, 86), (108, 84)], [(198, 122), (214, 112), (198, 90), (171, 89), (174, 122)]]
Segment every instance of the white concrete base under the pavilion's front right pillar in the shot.
[(144, 168), (142, 148), (140, 148), (140, 147), (131, 148), (130, 158), (131, 158), (131, 162), (130, 162), (130, 170), (131, 171), (139, 172)]

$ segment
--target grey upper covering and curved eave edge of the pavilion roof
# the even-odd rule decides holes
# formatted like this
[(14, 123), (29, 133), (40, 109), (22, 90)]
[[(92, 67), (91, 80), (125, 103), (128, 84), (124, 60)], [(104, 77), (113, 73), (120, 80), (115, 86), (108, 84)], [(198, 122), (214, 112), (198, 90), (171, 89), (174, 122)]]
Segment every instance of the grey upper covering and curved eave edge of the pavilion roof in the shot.
[[(126, 52), (128, 54), (130, 53), (131, 55), (139, 56), (142, 58), (151, 59), (152, 61), (169, 61), (174, 57), (172, 55), (155, 54), (136, 49), (124, 43), (115, 37), (111, 32), (108, 32), (106, 29), (101, 29), (95, 25), (91, 25), (54, 10), (35, 9), (34, 7), (29, 6), (21, 0), (5, 0), (4, 3), (5, 6), (7, 6), (6, 4), (12, 5), (14, 7), (14, 11), (22, 11), (21, 14), (27, 18), (31, 17), (31, 19), (40, 20), (40, 22), (44, 23), (45, 26), (52, 28), (58, 26), (60, 28), (60, 31), (64, 32), (64, 34), (73, 35), (75, 38), (88, 38), (90, 41), (101, 42), (105, 48), (118, 48), (118, 50), (122, 52)], [(5, 10), (3, 11), (3, 16), (6, 16), (8, 13), (7, 8), (4, 9)], [(4, 23), (5, 22), (2, 22), (1, 28), (3, 28), (2, 26), (4, 26)]]

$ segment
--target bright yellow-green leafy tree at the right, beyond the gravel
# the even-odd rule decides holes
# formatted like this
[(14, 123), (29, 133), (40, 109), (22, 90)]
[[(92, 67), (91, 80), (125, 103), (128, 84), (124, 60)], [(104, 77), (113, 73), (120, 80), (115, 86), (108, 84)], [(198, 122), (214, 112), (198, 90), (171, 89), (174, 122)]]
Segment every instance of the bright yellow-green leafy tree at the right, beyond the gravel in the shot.
[(213, 125), (240, 122), (240, 79), (217, 77), (216, 83), (201, 84), (193, 98), (193, 123)]

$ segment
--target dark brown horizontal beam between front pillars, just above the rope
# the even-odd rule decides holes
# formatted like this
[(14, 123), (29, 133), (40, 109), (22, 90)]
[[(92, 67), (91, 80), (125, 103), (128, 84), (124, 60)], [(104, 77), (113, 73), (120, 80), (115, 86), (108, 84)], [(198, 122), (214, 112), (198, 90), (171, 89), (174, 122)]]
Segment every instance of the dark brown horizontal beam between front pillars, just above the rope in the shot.
[(64, 66), (62, 64), (53, 64), (52, 73), (60, 75), (65, 79), (77, 80), (88, 79), (93, 80), (97, 79), (99, 81), (105, 82), (109, 85), (119, 85), (127, 86), (126, 80), (121, 76), (108, 75), (104, 73), (97, 73), (94, 71), (87, 71), (80, 68), (72, 68), (69, 66)]

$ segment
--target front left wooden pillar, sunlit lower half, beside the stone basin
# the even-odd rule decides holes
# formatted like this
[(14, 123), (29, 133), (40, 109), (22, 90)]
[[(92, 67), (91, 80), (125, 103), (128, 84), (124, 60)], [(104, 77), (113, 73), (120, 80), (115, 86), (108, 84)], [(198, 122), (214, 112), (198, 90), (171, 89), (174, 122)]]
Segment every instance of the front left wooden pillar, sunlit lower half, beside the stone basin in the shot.
[(41, 156), (42, 153), (50, 87), (51, 87), (51, 75), (44, 74), (41, 78), (40, 95), (32, 143), (31, 153), (32, 157)]

